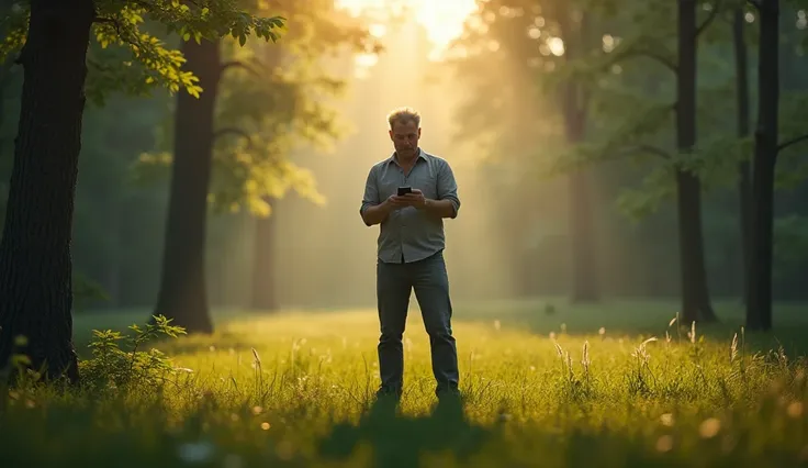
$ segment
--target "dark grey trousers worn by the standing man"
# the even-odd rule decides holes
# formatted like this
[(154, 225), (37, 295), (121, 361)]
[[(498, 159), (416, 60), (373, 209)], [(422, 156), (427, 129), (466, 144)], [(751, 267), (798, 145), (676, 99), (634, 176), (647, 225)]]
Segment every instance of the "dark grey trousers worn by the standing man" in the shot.
[(381, 392), (401, 394), (404, 383), (404, 346), (402, 337), (407, 319), (409, 296), (420, 305), (424, 326), (429, 335), (436, 393), (457, 391), (458, 353), (451, 334), (451, 299), (444, 253), (411, 264), (377, 264), (377, 299), (379, 304), (379, 370)]

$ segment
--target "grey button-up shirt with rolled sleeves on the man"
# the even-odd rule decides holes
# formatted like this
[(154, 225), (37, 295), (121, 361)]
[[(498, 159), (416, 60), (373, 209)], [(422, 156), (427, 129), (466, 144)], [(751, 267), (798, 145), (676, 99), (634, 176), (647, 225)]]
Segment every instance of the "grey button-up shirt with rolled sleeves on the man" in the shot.
[[(449, 163), (423, 149), (418, 151), (409, 174), (404, 174), (395, 154), (373, 165), (368, 174), (359, 213), (395, 194), (399, 187), (418, 189), (427, 199), (451, 200), (454, 205), (451, 218), (458, 214), (458, 186)], [(381, 261), (417, 261), (436, 254), (445, 246), (444, 220), (415, 207), (394, 210), (381, 223), (378, 239), (378, 256)]]

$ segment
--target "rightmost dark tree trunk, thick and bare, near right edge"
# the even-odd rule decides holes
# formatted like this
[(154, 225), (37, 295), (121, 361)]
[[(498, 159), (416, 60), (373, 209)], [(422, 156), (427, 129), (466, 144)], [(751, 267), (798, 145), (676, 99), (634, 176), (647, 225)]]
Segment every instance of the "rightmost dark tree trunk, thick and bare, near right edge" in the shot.
[(779, 1), (760, 7), (758, 126), (752, 169), (752, 255), (749, 266), (747, 327), (772, 328), (772, 250), (774, 244), (774, 167), (777, 161), (779, 103)]

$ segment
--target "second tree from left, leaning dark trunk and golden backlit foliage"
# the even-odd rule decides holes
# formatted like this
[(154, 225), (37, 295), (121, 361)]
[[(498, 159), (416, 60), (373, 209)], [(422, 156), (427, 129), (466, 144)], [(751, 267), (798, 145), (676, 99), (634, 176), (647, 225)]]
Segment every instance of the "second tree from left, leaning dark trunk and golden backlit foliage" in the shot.
[[(246, 4), (246, 2), (245, 2)], [(246, 4), (256, 14), (262, 2)], [(290, 18), (276, 45), (240, 48), (215, 38), (186, 42), (187, 68), (205, 90), (180, 93), (173, 111), (171, 153), (150, 155), (146, 167), (171, 167), (160, 289), (155, 314), (189, 333), (210, 333), (206, 291), (207, 211), (246, 208), (270, 214), (269, 200), (290, 189), (319, 202), (310, 171), (290, 159), (301, 142), (326, 144), (341, 129), (327, 100), (344, 83), (326, 73), (328, 55), (372, 49), (361, 22), (330, 0), (280, 1), (272, 11)], [(258, 239), (257, 242), (267, 242)], [(257, 258), (259, 268), (266, 256)]]

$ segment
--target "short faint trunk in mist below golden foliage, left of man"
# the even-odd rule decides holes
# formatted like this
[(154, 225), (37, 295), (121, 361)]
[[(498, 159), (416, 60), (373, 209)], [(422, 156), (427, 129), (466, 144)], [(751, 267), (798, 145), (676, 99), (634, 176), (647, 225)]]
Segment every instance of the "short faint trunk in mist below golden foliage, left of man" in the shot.
[[(269, 202), (268, 199), (265, 201)], [(278, 309), (276, 297), (274, 261), (272, 250), (276, 237), (276, 215), (256, 220), (255, 265), (252, 268), (251, 308), (274, 311)]]

